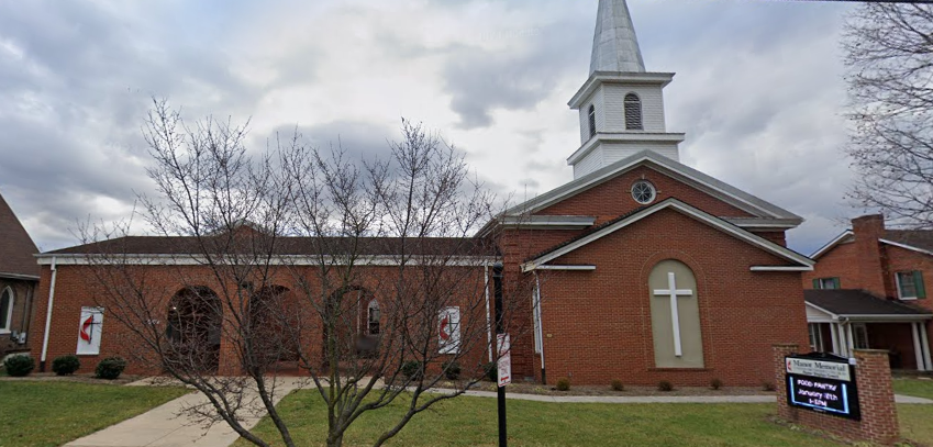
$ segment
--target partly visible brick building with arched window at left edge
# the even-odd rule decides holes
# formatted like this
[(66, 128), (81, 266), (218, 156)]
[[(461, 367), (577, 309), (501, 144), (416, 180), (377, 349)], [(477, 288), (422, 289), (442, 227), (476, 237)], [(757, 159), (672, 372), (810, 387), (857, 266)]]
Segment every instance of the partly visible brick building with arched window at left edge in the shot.
[(38, 253), (20, 220), (0, 195), (0, 357), (27, 351), (26, 334), (40, 268)]

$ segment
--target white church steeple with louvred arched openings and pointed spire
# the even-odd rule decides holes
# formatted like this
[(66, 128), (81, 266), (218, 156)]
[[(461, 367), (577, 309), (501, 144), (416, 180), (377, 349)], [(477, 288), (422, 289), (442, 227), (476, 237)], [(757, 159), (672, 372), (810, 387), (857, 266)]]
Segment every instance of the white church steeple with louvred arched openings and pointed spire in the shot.
[(673, 72), (645, 70), (625, 0), (599, 0), (590, 76), (570, 108), (579, 110), (581, 146), (567, 164), (579, 178), (642, 150), (679, 159), (682, 133), (668, 133), (663, 89)]

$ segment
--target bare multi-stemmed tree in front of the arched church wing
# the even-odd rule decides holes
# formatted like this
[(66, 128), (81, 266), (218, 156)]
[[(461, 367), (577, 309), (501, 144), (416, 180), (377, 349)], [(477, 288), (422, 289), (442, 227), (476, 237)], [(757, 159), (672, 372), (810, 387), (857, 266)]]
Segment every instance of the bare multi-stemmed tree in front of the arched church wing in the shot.
[[(275, 403), (277, 378), (299, 373), (327, 406), (327, 446), (365, 412), (402, 405), (379, 446), (487, 373), (499, 254), (473, 234), (495, 198), (436, 135), (403, 121), (390, 156), (356, 164), (296, 132), (253, 158), (246, 126), (189, 126), (164, 101), (144, 133), (159, 194), (140, 214), (160, 237), (88, 228), (87, 262), (134, 361), (208, 396), (191, 414), (267, 446), (241, 420), (268, 413), (295, 446)], [(517, 278), (507, 287), (530, 297)]]

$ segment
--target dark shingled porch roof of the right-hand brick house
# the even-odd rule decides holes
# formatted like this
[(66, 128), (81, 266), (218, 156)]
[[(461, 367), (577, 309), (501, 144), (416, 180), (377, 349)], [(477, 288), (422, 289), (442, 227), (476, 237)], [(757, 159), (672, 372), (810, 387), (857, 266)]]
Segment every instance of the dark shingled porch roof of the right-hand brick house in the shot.
[(933, 319), (929, 310), (900, 301), (886, 300), (864, 290), (804, 290), (807, 304), (831, 314), (834, 319), (858, 321), (922, 321)]

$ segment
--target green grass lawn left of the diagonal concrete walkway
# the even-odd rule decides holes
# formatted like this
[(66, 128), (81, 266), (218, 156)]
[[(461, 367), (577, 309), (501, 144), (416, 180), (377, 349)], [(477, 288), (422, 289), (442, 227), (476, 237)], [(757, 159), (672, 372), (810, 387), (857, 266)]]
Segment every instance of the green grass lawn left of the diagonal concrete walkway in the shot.
[(59, 446), (187, 392), (182, 388), (0, 381), (0, 447)]

